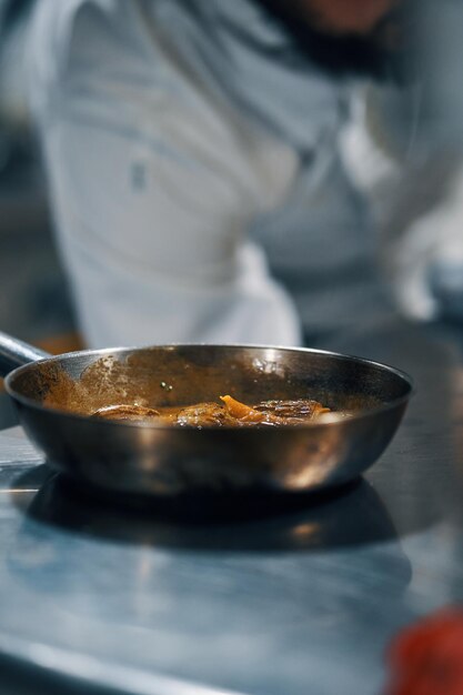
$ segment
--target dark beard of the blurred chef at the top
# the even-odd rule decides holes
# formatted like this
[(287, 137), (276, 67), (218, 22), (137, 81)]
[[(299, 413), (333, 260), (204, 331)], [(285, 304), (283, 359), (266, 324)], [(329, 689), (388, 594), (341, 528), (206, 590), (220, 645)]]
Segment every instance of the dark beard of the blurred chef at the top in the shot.
[[(411, 3), (404, 2), (371, 34), (363, 37), (340, 36), (318, 29), (315, 21), (302, 18), (296, 9), (288, 7), (285, 0), (256, 1), (290, 34), (298, 52), (323, 72), (336, 78), (372, 78), (395, 83), (412, 79), (413, 51), (407, 32), (413, 21)], [(395, 32), (400, 39), (386, 40), (386, 31), (389, 36)]]

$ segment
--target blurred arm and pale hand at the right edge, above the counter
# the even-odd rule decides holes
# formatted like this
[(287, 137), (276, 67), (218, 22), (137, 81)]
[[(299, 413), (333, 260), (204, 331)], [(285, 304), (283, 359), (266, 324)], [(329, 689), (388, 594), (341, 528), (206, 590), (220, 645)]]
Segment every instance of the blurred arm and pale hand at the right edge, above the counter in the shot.
[(425, 137), (419, 97), (417, 87), (370, 88), (344, 152), (375, 212), (381, 265), (399, 309), (417, 320), (461, 321), (462, 151)]

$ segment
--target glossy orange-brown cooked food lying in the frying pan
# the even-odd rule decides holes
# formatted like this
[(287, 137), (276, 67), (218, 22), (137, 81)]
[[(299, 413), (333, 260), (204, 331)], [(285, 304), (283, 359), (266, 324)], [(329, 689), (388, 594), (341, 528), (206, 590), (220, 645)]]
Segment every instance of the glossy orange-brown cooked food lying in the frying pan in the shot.
[(329, 413), (318, 401), (262, 401), (245, 405), (230, 395), (220, 396), (222, 403), (197, 403), (181, 407), (147, 407), (137, 404), (121, 404), (100, 407), (94, 417), (125, 422), (145, 422), (177, 426), (227, 426), (252, 425), (298, 425), (316, 420)]

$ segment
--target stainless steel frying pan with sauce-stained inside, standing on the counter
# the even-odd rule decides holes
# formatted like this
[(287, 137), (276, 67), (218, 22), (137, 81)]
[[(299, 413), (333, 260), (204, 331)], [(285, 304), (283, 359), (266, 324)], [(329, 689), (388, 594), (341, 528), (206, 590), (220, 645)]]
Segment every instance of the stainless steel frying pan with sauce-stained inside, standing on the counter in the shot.
[[(413, 386), (391, 366), (333, 352), (165, 345), (59, 356), (0, 333), (0, 374), (50, 466), (109, 492), (305, 492), (358, 477), (393, 437)], [(94, 419), (98, 407), (314, 399), (306, 425), (169, 427)]]

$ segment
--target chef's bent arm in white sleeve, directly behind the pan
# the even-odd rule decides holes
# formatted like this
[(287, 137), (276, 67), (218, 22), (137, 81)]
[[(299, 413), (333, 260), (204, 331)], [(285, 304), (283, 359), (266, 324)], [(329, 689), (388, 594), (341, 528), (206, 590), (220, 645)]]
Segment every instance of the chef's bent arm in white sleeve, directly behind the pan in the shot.
[[(129, 9), (138, 3), (108, 13), (85, 4), (63, 32), (60, 69), (50, 75), (38, 61), (36, 71), (84, 338), (93, 346), (298, 343), (292, 303), (245, 238), (253, 215), (291, 184), (295, 157), (238, 125), (154, 36), (148, 41)], [(56, 27), (49, 38), (59, 44)]]

